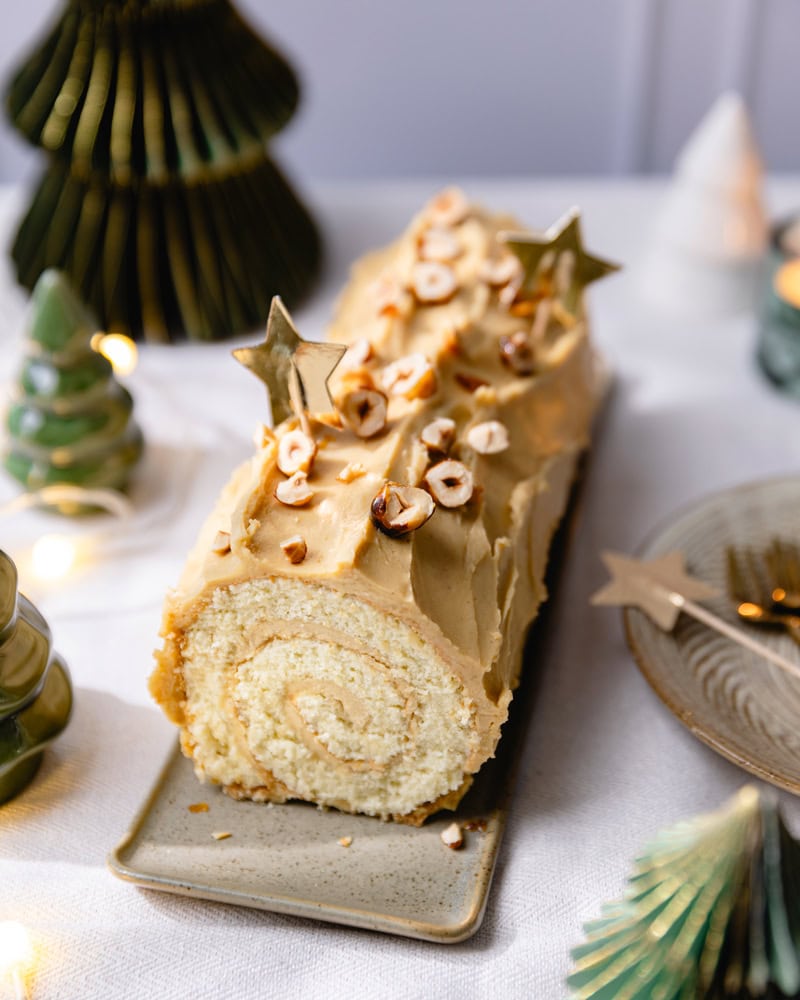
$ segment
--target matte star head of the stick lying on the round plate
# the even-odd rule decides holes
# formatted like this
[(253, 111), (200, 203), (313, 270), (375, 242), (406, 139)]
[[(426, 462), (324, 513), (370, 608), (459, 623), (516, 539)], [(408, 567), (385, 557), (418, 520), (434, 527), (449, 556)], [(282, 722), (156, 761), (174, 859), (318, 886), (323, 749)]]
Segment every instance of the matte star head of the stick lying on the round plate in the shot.
[(674, 627), (686, 601), (702, 601), (719, 593), (715, 587), (689, 576), (682, 552), (647, 560), (604, 552), (602, 559), (611, 580), (592, 596), (592, 604), (639, 608), (667, 631)]

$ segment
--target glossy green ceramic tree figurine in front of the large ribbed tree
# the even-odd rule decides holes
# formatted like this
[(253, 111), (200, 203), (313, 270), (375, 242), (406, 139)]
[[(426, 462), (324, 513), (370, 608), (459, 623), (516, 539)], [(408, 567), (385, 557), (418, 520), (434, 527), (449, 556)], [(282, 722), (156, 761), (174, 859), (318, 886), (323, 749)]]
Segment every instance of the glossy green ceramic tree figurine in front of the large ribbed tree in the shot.
[(97, 324), (58, 271), (33, 292), (27, 353), (6, 418), (6, 469), (30, 491), (124, 489), (142, 453), (133, 401), (93, 350)]

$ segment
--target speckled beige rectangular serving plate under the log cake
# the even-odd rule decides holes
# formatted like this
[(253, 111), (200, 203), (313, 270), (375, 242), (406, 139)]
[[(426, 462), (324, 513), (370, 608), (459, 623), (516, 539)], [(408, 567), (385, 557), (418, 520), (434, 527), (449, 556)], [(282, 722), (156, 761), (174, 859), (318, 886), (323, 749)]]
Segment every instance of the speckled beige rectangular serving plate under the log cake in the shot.
[[(603, 379), (607, 408), (611, 380)], [(597, 437), (598, 424), (595, 422)], [(555, 594), (578, 519), (585, 456), (551, 547), (547, 585)], [(455, 813), (422, 827), (351, 816), (308, 803), (237, 802), (203, 785), (176, 746), (130, 831), (109, 855), (111, 871), (147, 889), (309, 917), (423, 941), (455, 944), (481, 925), (508, 816), (520, 751), (546, 656), (552, 600), (526, 643), (522, 683), (496, 756), (487, 761)], [(189, 806), (208, 804), (208, 812)], [(461, 850), (441, 833), (465, 831)], [(215, 832), (230, 837), (215, 840)], [(343, 847), (341, 838), (352, 838)]]

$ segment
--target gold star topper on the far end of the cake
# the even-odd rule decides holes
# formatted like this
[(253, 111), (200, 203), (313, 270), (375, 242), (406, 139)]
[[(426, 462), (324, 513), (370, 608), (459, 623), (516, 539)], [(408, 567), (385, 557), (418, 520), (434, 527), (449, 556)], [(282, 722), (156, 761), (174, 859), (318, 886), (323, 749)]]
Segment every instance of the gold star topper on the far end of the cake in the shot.
[(587, 285), (619, 270), (619, 264), (584, 250), (577, 208), (570, 209), (542, 234), (507, 232), (500, 233), (498, 238), (522, 264), (520, 294), (541, 298), (555, 291), (572, 314), (577, 312)]

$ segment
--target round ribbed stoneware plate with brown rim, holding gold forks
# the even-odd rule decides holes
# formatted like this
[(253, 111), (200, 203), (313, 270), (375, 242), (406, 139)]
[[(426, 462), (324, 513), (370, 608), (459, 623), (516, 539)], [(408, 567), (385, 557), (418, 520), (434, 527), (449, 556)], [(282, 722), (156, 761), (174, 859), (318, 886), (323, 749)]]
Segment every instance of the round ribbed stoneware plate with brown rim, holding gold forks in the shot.
[[(680, 513), (640, 554), (683, 551), (690, 572), (720, 589), (704, 605), (741, 625), (726, 593), (725, 548), (766, 548), (776, 537), (800, 541), (798, 477), (708, 497)], [(686, 615), (671, 634), (640, 611), (626, 610), (624, 618), (642, 673), (681, 722), (735, 764), (800, 794), (800, 682)], [(741, 627), (800, 664), (800, 647), (785, 633)]]

